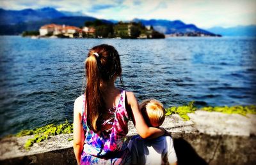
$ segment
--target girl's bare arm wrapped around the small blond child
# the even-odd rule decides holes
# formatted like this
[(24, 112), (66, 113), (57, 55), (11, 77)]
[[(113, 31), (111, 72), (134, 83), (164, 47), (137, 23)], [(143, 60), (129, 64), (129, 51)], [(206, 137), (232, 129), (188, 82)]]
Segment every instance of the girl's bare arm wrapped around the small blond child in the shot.
[(133, 123), (141, 138), (157, 138), (165, 133), (163, 128), (148, 127), (143, 116), (141, 115), (138, 101), (132, 92), (126, 92), (127, 103), (131, 106)]

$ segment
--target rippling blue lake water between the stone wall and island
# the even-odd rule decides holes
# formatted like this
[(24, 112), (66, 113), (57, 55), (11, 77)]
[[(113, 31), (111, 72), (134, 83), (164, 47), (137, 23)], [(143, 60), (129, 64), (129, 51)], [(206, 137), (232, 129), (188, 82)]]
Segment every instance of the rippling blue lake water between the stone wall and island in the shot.
[[(0, 136), (72, 122), (84, 59), (95, 45), (120, 54), (124, 88), (164, 106), (255, 104), (255, 38), (31, 39), (0, 36)], [(120, 86), (117, 81), (116, 84)]]

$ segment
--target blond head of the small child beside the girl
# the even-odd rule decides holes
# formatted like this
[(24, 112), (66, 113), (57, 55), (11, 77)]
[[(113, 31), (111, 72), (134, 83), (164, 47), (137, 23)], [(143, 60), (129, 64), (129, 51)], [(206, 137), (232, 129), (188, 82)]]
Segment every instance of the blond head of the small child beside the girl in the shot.
[(163, 124), (165, 110), (156, 99), (145, 99), (140, 104), (141, 113), (148, 126), (159, 127)]

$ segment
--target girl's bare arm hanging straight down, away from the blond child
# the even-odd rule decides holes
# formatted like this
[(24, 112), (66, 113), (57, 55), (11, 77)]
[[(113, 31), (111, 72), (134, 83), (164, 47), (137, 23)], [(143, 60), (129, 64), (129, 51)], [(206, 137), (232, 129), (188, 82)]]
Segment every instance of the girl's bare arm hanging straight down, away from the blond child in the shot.
[(74, 142), (73, 148), (76, 156), (77, 164), (80, 164), (81, 154), (83, 151), (84, 145), (84, 130), (81, 124), (81, 110), (83, 108), (83, 97), (78, 97), (74, 103), (74, 123), (73, 123), (73, 132), (74, 132)]

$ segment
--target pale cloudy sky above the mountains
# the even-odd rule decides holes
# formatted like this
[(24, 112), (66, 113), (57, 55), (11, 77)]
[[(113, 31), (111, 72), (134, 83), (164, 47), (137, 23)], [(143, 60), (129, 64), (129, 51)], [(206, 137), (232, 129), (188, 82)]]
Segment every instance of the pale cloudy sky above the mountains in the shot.
[(108, 20), (182, 20), (202, 28), (256, 24), (256, 0), (0, 0), (6, 10), (44, 7)]

